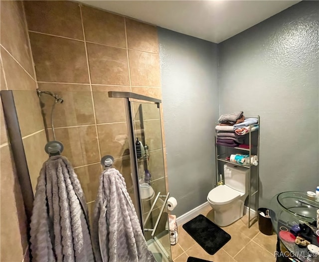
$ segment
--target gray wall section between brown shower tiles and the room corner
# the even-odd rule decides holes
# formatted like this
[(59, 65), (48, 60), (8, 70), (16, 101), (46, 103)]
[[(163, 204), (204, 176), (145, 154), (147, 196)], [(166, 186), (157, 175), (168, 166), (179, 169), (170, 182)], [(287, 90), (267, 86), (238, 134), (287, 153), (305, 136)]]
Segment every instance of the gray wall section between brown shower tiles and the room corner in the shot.
[(217, 44), (159, 28), (169, 192), (180, 216), (206, 201), (215, 183)]

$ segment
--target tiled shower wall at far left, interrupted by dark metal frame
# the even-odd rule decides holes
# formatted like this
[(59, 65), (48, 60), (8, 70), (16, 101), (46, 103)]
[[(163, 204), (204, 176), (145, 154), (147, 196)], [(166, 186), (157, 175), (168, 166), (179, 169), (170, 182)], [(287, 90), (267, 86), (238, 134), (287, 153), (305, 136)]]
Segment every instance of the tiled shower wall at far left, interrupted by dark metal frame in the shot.
[[(29, 172), (31, 176), (38, 176), (43, 161), (47, 159), (43, 150), (46, 138), (21, 1), (0, 1), (0, 24), (0, 88), (15, 92)], [(7, 138), (2, 103), (0, 108), (0, 261), (22, 261), (24, 254), (27, 261), (26, 217)]]

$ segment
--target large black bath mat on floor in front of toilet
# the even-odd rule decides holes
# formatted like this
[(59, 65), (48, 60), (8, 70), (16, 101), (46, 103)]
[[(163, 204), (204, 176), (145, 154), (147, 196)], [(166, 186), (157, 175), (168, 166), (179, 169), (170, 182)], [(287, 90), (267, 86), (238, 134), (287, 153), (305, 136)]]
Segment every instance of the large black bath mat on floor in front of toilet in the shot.
[(229, 240), (230, 235), (203, 215), (188, 221), (183, 229), (209, 254), (214, 255)]

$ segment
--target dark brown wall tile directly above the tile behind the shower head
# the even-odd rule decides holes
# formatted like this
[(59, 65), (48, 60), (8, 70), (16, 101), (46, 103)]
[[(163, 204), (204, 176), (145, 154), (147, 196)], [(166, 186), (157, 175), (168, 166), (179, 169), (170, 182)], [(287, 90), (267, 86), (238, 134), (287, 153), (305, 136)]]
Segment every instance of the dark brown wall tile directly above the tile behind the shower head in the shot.
[(30, 32), (38, 81), (89, 83), (84, 42)]

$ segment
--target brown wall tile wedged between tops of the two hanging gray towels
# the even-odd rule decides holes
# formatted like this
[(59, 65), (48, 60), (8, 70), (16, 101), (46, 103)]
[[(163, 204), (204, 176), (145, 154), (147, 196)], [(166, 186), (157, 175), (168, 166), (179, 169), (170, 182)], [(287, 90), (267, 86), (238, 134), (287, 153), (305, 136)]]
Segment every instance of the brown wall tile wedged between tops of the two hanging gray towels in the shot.
[(74, 169), (80, 180), (86, 202), (95, 201), (99, 188), (99, 178), (102, 172), (101, 164), (94, 164)]

